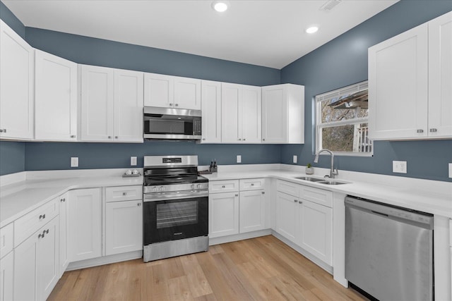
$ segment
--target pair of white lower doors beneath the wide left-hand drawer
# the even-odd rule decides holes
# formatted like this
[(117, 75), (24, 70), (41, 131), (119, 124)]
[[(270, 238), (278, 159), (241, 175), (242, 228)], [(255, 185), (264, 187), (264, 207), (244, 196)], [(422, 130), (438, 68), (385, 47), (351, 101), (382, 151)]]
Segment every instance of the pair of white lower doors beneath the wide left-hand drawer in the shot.
[(14, 249), (14, 300), (46, 300), (59, 279), (59, 218)]

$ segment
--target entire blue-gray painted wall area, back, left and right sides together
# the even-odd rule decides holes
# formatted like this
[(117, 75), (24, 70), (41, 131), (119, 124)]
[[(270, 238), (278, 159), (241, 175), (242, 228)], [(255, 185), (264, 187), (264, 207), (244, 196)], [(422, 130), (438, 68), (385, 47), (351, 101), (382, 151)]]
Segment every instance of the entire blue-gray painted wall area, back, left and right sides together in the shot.
[[(145, 142), (144, 144), (0, 142), (0, 175), (24, 170), (69, 169), (69, 157), (80, 158), (79, 168), (127, 168), (129, 156), (145, 154), (198, 154), (200, 164), (216, 158), (218, 164), (234, 164), (242, 155), (244, 164), (313, 161), (314, 118), (312, 100), (316, 94), (367, 80), (367, 48), (400, 32), (452, 10), (452, 1), (403, 0), (358, 25), (282, 70), (210, 59), (191, 54), (112, 42), (61, 32), (24, 27), (0, 2), (0, 18), (26, 37), (37, 49), (99, 66), (142, 70), (248, 85), (292, 82), (305, 86), (305, 145), (196, 145), (193, 142)], [(310, 126), (311, 125), (311, 126)], [(375, 142), (374, 156), (342, 156), (338, 168), (350, 171), (393, 174), (392, 160), (408, 161), (413, 178), (452, 181), (447, 164), (452, 162), (452, 140)], [(321, 157), (315, 166), (328, 167)]]

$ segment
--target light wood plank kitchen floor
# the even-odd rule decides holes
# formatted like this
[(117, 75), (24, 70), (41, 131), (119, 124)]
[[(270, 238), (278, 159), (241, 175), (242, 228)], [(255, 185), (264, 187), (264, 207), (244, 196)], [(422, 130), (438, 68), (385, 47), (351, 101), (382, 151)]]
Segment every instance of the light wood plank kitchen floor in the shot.
[(272, 235), (69, 271), (48, 300), (367, 300)]

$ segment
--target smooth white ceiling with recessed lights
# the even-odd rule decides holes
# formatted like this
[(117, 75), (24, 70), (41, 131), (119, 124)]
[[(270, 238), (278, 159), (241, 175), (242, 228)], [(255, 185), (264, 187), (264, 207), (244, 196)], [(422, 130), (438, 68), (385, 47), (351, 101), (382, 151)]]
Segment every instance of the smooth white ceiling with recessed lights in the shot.
[[(208, 0), (1, 1), (28, 27), (278, 69), (397, 2), (343, 0), (321, 11), (327, 0), (229, 0), (218, 13)], [(310, 25), (319, 32), (307, 34)]]

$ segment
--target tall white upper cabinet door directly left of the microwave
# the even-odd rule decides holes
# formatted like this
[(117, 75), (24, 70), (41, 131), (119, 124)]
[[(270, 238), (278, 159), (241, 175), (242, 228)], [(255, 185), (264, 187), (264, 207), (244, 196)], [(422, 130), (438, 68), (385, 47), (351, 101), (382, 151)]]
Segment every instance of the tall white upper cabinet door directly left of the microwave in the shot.
[(143, 73), (114, 70), (114, 141), (143, 142)]

